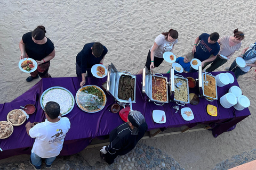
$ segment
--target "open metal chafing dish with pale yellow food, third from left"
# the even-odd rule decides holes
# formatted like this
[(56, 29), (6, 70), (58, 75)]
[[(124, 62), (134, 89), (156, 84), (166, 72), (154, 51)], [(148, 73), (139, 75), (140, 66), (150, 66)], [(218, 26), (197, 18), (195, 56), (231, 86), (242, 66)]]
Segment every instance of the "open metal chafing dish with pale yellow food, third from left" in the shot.
[[(175, 93), (177, 94), (179, 91), (179, 82), (175, 83), (175, 79), (182, 79), (183, 81), (186, 82), (187, 85), (187, 98), (188, 101), (182, 101), (182, 100), (178, 100), (177, 98), (175, 98)], [(189, 104), (189, 88), (188, 88), (188, 79), (184, 78), (182, 75), (176, 74), (174, 75), (174, 69), (170, 70), (170, 91), (171, 91), (171, 101), (176, 102), (178, 105), (184, 106), (185, 104)]]

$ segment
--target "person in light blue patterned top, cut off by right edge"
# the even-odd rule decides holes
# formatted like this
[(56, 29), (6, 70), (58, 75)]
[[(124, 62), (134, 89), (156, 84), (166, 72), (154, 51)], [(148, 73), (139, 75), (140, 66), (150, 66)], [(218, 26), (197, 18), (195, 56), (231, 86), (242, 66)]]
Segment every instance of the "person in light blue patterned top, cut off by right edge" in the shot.
[(234, 60), (230, 67), (225, 68), (226, 71), (234, 72), (236, 79), (238, 79), (240, 75), (246, 74), (251, 67), (256, 66), (256, 43), (250, 44), (249, 47), (244, 48), (242, 54), (238, 57), (242, 57), (244, 59), (246, 63), (245, 67), (239, 67), (236, 64), (236, 60)]

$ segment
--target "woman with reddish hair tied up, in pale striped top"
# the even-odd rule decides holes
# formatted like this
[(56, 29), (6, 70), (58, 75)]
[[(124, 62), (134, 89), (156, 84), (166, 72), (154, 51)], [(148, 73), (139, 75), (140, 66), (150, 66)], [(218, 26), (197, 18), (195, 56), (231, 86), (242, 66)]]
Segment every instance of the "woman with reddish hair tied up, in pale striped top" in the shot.
[[(218, 69), (221, 65), (225, 64), (230, 57), (238, 51), (242, 46), (242, 40), (244, 39), (244, 33), (238, 31), (238, 28), (233, 31), (234, 36), (225, 36), (218, 40), (220, 45), (220, 52), (212, 62), (204, 64), (204, 67), (211, 64), (210, 67), (206, 69), (207, 72), (214, 71)], [(202, 69), (204, 69), (204, 67)]]

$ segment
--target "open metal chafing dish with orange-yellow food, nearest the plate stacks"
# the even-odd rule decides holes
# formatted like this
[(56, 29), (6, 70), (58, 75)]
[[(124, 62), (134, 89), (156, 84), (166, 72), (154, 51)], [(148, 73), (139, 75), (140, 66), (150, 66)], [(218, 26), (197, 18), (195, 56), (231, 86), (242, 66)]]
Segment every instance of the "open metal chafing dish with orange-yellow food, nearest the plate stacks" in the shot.
[[(215, 79), (215, 90), (216, 90), (216, 97), (215, 98), (210, 97), (210, 96), (206, 96), (204, 94), (204, 86), (205, 86), (205, 84), (204, 84), (204, 76), (205, 76), (205, 74), (209, 75), (209, 76), (211, 76), (211, 77), (213, 77)], [(216, 77), (214, 75), (212, 75), (211, 73), (207, 73), (207, 72), (203, 73), (201, 65), (198, 67), (198, 86), (199, 86), (199, 92), (200, 92), (198, 97), (205, 98), (208, 101), (218, 100)]]

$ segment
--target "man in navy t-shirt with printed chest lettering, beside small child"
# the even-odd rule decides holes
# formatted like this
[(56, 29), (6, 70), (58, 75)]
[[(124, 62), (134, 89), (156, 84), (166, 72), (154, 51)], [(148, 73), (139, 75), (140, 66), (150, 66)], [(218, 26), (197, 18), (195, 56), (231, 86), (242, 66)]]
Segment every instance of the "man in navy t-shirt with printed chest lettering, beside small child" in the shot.
[[(212, 62), (217, 57), (220, 50), (220, 45), (217, 42), (219, 38), (220, 35), (217, 32), (213, 32), (211, 35), (202, 33), (196, 38), (192, 52), (194, 53), (194, 58), (202, 62), (202, 68), (204, 68), (204, 63)], [(189, 72), (197, 72), (197, 70), (191, 67)]]

